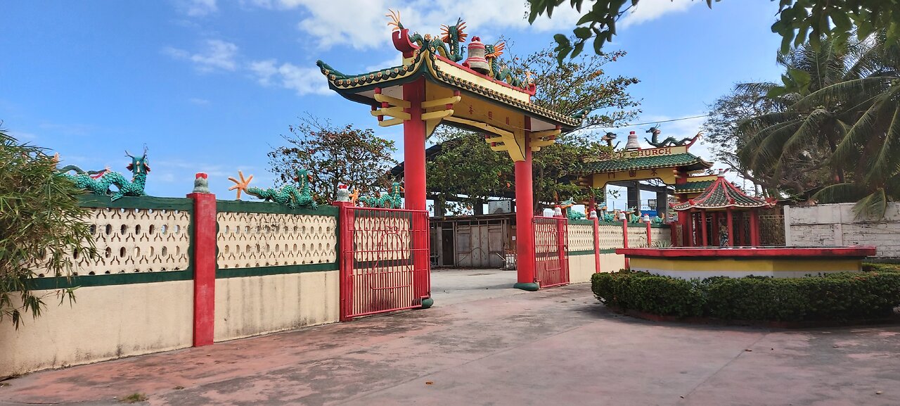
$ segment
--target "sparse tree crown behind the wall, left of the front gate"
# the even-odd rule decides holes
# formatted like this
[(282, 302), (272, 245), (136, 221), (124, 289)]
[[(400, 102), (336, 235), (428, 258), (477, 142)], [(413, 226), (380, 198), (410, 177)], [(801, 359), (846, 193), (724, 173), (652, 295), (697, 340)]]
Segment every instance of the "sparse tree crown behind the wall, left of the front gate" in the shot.
[(335, 126), (311, 116), (301, 118), (283, 135), (289, 145), (268, 153), (277, 184), (293, 183), (296, 169), (305, 168), (312, 176), (318, 203), (334, 201), (339, 184), (371, 194), (390, 185), (388, 171), (397, 164), (392, 158), (394, 142), (384, 140), (371, 129), (360, 130), (353, 124)]

